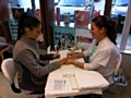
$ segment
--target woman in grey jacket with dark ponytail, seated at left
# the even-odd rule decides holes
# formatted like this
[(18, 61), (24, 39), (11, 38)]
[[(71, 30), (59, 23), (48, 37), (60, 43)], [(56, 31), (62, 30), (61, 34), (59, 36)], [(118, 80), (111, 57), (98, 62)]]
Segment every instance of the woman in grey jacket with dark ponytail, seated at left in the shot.
[(13, 60), (19, 73), (19, 86), (24, 90), (44, 93), (49, 72), (59, 69), (66, 62), (66, 59), (48, 65), (40, 63), (40, 60), (58, 59), (60, 54), (57, 52), (39, 56), (36, 39), (41, 34), (41, 24), (36, 17), (23, 14), (19, 21), (17, 34), (17, 41), (13, 49)]

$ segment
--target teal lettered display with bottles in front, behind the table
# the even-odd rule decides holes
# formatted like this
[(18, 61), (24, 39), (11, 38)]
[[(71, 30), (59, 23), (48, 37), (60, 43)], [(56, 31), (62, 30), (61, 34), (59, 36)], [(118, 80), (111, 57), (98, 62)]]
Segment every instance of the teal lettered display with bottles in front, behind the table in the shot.
[(55, 23), (52, 26), (55, 45), (61, 44), (64, 48), (74, 46), (74, 42), (76, 41), (74, 23), (64, 24), (63, 22), (60, 22), (60, 25)]

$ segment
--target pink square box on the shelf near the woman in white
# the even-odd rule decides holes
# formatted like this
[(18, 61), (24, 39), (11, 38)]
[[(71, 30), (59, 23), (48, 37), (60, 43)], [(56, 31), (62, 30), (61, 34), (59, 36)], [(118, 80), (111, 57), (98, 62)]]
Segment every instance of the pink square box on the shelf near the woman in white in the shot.
[(90, 23), (90, 11), (74, 11), (74, 23), (76, 27), (85, 27)]

